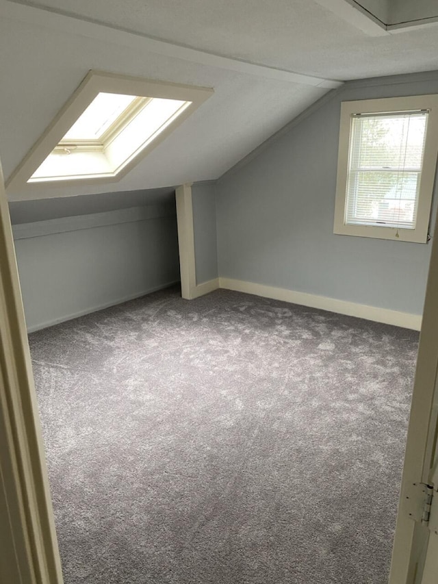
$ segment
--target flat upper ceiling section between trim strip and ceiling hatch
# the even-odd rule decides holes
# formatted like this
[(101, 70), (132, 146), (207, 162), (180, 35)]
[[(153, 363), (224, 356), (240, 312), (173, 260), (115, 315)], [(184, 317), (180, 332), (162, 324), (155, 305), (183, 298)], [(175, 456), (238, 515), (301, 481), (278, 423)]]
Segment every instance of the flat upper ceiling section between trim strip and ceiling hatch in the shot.
[[(407, 3), (419, 2), (424, 0)], [(372, 38), (313, 0), (31, 3), (211, 53), (333, 79), (431, 71), (438, 67), (437, 28)]]

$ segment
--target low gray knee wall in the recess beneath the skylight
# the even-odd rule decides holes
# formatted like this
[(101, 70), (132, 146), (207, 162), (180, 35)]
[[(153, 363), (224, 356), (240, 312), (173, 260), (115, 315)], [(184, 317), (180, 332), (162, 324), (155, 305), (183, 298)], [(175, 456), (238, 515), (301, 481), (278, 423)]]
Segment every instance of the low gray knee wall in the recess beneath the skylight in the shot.
[(172, 205), (17, 225), (14, 239), (29, 330), (179, 281)]

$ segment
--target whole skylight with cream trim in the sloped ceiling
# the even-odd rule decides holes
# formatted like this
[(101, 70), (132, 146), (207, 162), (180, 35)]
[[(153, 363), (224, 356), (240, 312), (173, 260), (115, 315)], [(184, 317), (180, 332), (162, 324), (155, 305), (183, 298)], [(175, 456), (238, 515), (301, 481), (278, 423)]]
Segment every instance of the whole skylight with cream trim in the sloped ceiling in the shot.
[(212, 92), (90, 71), (16, 168), (8, 190), (118, 180)]

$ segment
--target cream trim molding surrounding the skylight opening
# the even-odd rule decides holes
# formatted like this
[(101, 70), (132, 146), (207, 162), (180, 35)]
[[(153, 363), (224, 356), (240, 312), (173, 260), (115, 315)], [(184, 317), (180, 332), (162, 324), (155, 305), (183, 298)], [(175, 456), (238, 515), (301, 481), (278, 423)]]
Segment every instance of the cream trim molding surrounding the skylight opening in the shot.
[[(128, 157), (127, 162), (119, 165), (121, 170), (115, 173), (105, 173), (99, 176), (87, 176), (79, 178), (79, 176), (69, 179), (44, 179), (32, 180), (29, 178), (34, 175), (36, 170), (40, 167), (42, 162), (57, 148), (58, 145), (68, 148), (68, 143), (77, 143), (77, 140), (66, 140), (62, 142), (62, 138), (66, 135), (68, 130), (73, 126), (77, 118), (83, 114), (88, 105), (94, 100), (97, 94), (117, 93), (130, 94), (137, 97), (163, 98), (174, 99), (179, 101), (190, 101), (185, 110), (175, 118), (170, 118), (172, 121), (168, 123), (167, 127), (153, 140), (144, 147), (137, 155)], [(138, 77), (129, 77), (125, 75), (117, 75), (115, 73), (105, 73), (103, 71), (89, 71), (83, 79), (77, 90), (68, 99), (60, 112), (55, 116), (51, 124), (44, 131), (42, 136), (37, 140), (34, 146), (30, 149), (23, 161), (18, 164), (14, 172), (8, 177), (5, 183), (8, 193), (23, 192), (32, 189), (49, 188), (50, 186), (78, 186), (79, 184), (99, 184), (116, 182), (123, 178), (131, 168), (136, 166), (149, 152), (158, 146), (169, 134), (174, 131), (184, 120), (186, 120), (204, 101), (206, 101), (214, 90), (205, 87), (196, 87), (188, 85), (174, 84), (164, 81), (156, 81), (151, 79), (140, 79)], [(131, 119), (138, 115), (139, 109), (133, 108), (131, 112)], [(112, 129), (113, 130), (113, 129)], [(115, 131), (115, 130), (114, 130)], [(110, 136), (103, 135), (110, 144), (112, 140), (111, 131)], [(62, 142), (62, 144), (60, 144)], [(84, 147), (88, 145), (93, 146), (96, 151), (101, 150), (99, 140), (85, 140)], [(138, 152), (138, 151), (137, 151)]]

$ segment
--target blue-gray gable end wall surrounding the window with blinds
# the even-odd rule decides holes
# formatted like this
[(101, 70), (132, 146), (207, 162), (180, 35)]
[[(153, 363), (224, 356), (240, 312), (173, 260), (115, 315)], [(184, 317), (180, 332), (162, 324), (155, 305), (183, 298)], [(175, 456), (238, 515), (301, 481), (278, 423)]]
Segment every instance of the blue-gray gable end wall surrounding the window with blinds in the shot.
[(220, 179), (219, 274), (422, 314), (430, 245), (333, 234), (339, 112), (341, 101), (436, 93), (438, 72), (337, 91)]

